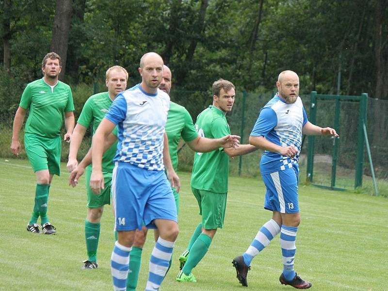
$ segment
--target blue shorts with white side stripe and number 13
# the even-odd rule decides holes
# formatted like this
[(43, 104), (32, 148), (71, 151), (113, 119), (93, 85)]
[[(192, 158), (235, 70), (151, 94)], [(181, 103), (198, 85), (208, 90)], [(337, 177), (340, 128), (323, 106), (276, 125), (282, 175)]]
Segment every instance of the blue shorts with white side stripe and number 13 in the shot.
[(267, 188), (264, 208), (280, 213), (299, 212), (298, 176), (298, 164), (283, 171), (262, 175)]

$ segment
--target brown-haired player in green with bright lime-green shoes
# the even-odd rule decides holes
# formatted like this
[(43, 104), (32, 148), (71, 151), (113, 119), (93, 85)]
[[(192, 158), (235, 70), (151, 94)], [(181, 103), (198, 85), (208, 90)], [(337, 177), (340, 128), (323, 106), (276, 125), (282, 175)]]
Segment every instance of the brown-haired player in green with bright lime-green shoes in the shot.
[[(198, 134), (208, 138), (220, 138), (230, 134), (226, 113), (233, 107), (234, 85), (226, 80), (213, 83), (213, 105), (202, 111), (195, 123)], [(189, 245), (179, 257), (180, 269), (177, 281), (196, 282), (191, 273), (206, 255), (217, 228), (222, 228), (226, 210), (229, 173), (229, 157), (245, 155), (256, 150), (255, 146), (240, 145), (237, 148), (219, 147), (209, 153), (194, 154), (191, 187), (199, 206), (202, 222), (196, 226)]]

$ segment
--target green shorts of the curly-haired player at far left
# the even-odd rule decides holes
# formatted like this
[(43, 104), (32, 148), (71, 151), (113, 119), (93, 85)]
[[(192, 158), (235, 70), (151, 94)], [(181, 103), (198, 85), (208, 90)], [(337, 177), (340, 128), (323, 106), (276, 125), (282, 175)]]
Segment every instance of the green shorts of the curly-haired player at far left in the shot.
[(34, 172), (49, 170), (51, 175), (60, 175), (61, 137), (47, 138), (35, 134), (24, 135), (24, 147)]

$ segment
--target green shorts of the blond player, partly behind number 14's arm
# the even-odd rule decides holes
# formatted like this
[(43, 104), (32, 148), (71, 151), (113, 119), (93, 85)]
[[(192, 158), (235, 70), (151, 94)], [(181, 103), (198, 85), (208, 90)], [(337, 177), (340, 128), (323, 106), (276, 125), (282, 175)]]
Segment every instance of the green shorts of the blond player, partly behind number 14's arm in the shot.
[(87, 203), (88, 208), (98, 208), (104, 206), (105, 204), (111, 204), (111, 188), (112, 188), (112, 173), (111, 172), (102, 172), (104, 176), (105, 189), (101, 189), (101, 193), (96, 195), (90, 189), (90, 176), (92, 175), (92, 167), (86, 167), (85, 170), (85, 183), (86, 183), (86, 193), (87, 193)]

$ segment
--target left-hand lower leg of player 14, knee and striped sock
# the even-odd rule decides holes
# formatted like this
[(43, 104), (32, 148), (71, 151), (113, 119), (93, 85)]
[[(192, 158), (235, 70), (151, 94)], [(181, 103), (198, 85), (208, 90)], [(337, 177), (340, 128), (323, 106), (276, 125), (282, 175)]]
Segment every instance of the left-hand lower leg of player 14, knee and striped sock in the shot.
[(135, 231), (117, 231), (117, 242), (114, 243), (111, 256), (113, 290), (125, 291), (129, 270), (129, 253), (135, 239)]

